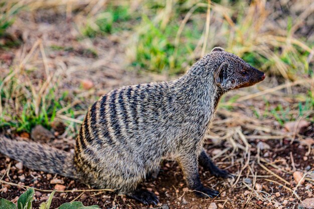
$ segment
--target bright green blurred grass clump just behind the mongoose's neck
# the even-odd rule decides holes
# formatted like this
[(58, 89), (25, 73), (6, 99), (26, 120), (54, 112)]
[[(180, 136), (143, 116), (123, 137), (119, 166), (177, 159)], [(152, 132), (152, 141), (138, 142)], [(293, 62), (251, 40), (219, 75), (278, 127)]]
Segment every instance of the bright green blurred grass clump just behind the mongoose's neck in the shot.
[(147, 16), (143, 16), (137, 29), (137, 41), (133, 45), (136, 56), (132, 65), (156, 73), (164, 70), (169, 71), (169, 74), (184, 73), (194, 62), (193, 51), (201, 37), (201, 30), (196, 30), (197, 23), (193, 24), (194, 29), (187, 27), (181, 35), (185, 43), (176, 46), (178, 23), (163, 26), (162, 22), (153, 23)]

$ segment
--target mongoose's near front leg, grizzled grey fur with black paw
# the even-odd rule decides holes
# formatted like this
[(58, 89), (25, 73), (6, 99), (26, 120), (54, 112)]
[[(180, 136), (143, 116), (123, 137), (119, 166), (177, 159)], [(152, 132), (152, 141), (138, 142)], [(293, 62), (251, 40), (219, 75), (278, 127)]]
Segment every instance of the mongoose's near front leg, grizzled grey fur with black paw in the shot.
[(207, 188), (201, 183), (197, 158), (198, 157), (196, 155), (193, 156), (186, 154), (178, 157), (178, 161), (186, 177), (188, 187), (191, 190), (194, 190), (197, 196), (213, 198), (219, 194), (219, 191)]

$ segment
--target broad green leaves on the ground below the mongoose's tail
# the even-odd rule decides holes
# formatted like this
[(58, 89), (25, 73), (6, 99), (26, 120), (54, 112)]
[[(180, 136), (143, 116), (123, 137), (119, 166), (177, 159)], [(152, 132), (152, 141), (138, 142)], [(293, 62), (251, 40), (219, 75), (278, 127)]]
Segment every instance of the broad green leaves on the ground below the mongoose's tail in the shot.
[[(56, 191), (51, 192), (49, 198), (46, 202), (42, 202), (39, 206), (39, 209), (50, 209), (52, 198)], [(26, 192), (21, 194), (18, 199), (17, 205), (13, 202), (0, 197), (0, 209), (32, 209), (32, 201), (34, 196), (34, 189), (29, 188)], [(59, 209), (93, 209), (100, 208), (98, 205), (84, 206), (82, 202), (74, 201), (63, 203), (59, 206)]]

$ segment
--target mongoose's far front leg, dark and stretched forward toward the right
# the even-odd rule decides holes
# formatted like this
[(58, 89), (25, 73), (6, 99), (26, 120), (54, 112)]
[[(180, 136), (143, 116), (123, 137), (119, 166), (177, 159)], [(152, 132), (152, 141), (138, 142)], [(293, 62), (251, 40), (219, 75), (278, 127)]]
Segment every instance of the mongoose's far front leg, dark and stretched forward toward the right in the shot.
[(209, 170), (211, 174), (215, 175), (216, 177), (228, 178), (232, 176), (227, 170), (217, 167), (204, 149), (199, 156), (199, 163), (202, 167), (204, 167), (206, 170)]

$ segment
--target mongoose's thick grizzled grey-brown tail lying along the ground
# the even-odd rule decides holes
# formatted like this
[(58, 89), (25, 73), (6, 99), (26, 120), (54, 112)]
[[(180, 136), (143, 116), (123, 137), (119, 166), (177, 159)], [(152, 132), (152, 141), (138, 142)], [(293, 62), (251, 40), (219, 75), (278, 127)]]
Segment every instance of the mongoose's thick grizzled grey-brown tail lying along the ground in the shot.
[(73, 154), (45, 144), (0, 136), (0, 152), (23, 162), (28, 168), (79, 178), (73, 163)]

